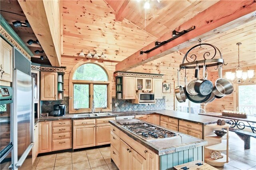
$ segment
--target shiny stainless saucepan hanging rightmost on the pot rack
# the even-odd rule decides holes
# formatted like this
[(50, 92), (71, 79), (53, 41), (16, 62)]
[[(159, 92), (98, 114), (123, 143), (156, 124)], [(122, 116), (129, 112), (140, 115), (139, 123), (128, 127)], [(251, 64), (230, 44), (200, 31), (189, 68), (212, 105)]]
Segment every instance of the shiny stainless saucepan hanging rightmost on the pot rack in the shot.
[(227, 79), (222, 78), (222, 68), (219, 67), (219, 77), (216, 82), (215, 86), (212, 90), (212, 92), (218, 96), (218, 97), (223, 97), (225, 95), (231, 95), (234, 91), (233, 84), (228, 81)]

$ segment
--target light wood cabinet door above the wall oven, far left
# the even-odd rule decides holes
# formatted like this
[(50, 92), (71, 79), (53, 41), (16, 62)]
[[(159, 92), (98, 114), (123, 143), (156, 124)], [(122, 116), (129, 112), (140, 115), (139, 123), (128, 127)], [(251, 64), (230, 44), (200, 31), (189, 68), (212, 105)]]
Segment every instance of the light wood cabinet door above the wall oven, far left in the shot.
[(12, 82), (12, 46), (9, 45), (2, 38), (1, 40), (1, 51), (0, 51), (0, 69), (4, 71), (1, 76), (2, 71), (0, 71), (0, 80)]

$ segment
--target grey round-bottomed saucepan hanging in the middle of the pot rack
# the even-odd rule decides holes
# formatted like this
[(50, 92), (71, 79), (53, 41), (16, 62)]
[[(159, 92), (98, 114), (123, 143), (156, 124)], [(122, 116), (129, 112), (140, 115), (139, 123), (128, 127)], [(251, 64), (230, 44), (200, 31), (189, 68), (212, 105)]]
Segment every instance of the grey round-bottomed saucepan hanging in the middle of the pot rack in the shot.
[(196, 84), (195, 84), (195, 91), (197, 93), (199, 93), (200, 95), (204, 95), (204, 96), (209, 95), (212, 92), (212, 89), (213, 89), (212, 81), (207, 80), (205, 78), (205, 69), (206, 69), (206, 66), (204, 64), (203, 78), (196, 81)]

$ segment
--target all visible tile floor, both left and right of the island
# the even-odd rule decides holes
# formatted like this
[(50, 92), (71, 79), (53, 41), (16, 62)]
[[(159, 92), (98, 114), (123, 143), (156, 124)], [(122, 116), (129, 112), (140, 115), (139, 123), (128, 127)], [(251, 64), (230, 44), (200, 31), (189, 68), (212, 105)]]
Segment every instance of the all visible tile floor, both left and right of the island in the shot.
[[(229, 147), (230, 162), (216, 168), (220, 170), (256, 170), (255, 138), (251, 137), (251, 148), (244, 150), (244, 141), (234, 132), (230, 132)], [(38, 156), (33, 170), (118, 170), (118, 168), (114, 162), (111, 162), (110, 147), (107, 146)]]

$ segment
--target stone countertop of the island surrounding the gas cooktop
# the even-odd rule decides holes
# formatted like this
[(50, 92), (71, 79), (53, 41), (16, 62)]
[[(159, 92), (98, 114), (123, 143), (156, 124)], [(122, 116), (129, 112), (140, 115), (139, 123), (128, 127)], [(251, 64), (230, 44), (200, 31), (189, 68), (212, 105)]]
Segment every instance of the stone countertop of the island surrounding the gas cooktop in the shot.
[[(202, 140), (200, 138), (195, 138), (193, 136), (189, 136), (187, 134), (177, 132), (174, 130), (170, 130), (170, 129), (166, 129), (163, 127), (161, 127), (161, 128), (178, 133), (180, 136), (175, 136), (175, 137), (160, 139), (160, 140), (146, 141), (146, 140), (143, 140), (142, 138), (136, 136), (132, 132), (126, 130), (125, 128), (122, 127), (122, 125), (120, 125), (116, 121), (109, 121), (109, 122), (110, 122), (110, 124), (114, 125), (118, 129), (120, 129), (122, 132), (127, 134), (130, 138), (132, 138), (132, 139), (136, 140), (137, 142), (139, 142), (140, 144), (146, 146), (146, 148), (152, 150), (159, 156), (174, 153), (174, 152), (179, 152), (182, 150), (188, 150), (191, 148), (197, 148), (197, 147), (204, 146), (204, 145), (208, 144), (206, 140)], [(142, 123), (148, 123), (148, 122), (142, 121)], [(148, 124), (154, 125), (152, 123), (148, 123)], [(154, 125), (154, 126), (159, 127), (157, 125)]]

